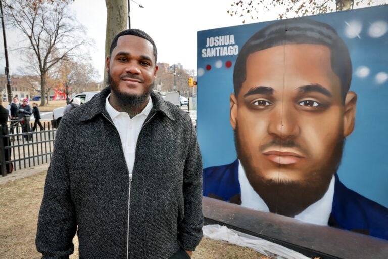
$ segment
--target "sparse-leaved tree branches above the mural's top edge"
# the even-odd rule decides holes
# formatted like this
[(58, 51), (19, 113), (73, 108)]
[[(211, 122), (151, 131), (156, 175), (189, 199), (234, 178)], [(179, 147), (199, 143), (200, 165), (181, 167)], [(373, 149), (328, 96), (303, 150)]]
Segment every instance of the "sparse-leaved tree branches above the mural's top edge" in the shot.
[[(388, 3), (388, 0), (358, 0), (356, 6), (382, 5)], [(259, 19), (260, 15), (266, 11), (278, 12), (278, 19), (293, 18), (296, 16), (306, 16), (314, 14), (329, 13), (353, 9), (354, 0), (239, 0), (233, 1), (231, 9), (227, 10), (230, 16), (243, 19)]]

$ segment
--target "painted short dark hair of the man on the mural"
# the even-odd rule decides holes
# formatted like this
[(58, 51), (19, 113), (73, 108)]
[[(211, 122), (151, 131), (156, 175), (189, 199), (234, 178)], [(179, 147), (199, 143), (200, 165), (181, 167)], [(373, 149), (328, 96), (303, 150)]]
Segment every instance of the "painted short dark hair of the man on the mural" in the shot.
[[(340, 78), (345, 100), (352, 81), (352, 62), (348, 47), (333, 27), (308, 18), (281, 20), (255, 33), (241, 48), (233, 72), (234, 93), (238, 95), (247, 79), (247, 58), (257, 51), (286, 44), (317, 44), (330, 49), (331, 68)], [(265, 62), (265, 61), (264, 61)]]

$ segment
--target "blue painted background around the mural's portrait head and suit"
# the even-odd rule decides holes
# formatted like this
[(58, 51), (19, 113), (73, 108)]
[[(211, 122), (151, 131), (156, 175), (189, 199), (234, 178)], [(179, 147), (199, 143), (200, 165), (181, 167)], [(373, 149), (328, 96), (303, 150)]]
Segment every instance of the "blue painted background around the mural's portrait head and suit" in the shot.
[[(377, 21), (387, 24), (387, 14), (388, 5), (384, 5), (309, 17), (334, 27), (348, 46), (352, 59), (351, 90), (358, 95), (356, 126), (347, 138), (338, 175), (348, 188), (385, 207), (388, 207), (388, 80), (377, 83), (375, 75), (388, 73), (388, 33), (373, 38), (368, 30)], [(354, 21), (362, 25), (362, 30), (358, 36), (349, 38), (346, 30)], [(197, 34), (197, 133), (204, 168), (231, 163), (236, 158), (229, 123), (229, 95), (233, 92), (236, 55), (203, 58), (206, 39), (233, 34), (235, 45), (241, 49), (255, 32), (273, 22), (199, 31)], [(227, 61), (232, 62), (230, 68), (225, 66)], [(212, 68), (206, 70), (207, 65)], [(369, 68), (368, 76), (356, 75), (361, 66)]]

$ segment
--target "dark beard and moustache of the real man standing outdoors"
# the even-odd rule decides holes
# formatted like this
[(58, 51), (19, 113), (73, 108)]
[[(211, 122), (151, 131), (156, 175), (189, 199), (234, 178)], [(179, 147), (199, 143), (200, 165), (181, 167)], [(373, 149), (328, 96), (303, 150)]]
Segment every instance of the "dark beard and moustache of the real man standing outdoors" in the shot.
[[(138, 79), (138, 77), (133, 74), (127, 74), (125, 77)], [(137, 111), (149, 98), (152, 89), (154, 88), (154, 81), (144, 89), (143, 93), (139, 95), (131, 95), (120, 92), (118, 83), (112, 80), (111, 74), (108, 72), (108, 85), (110, 85), (111, 91), (115, 94), (120, 107)]]

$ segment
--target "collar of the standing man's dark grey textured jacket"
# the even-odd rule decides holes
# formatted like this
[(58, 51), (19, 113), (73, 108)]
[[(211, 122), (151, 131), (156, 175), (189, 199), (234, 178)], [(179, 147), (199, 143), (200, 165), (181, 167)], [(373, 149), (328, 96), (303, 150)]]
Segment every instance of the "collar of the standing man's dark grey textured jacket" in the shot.
[[(105, 109), (105, 101), (108, 95), (111, 93), (111, 88), (108, 86), (101, 90), (99, 94), (96, 94), (89, 102), (87, 102), (87, 109), (84, 110), (84, 113), (80, 117), (80, 121), (88, 121), (94, 118), (99, 114), (104, 114), (107, 118), (110, 118), (107, 110)], [(153, 103), (153, 107), (149, 115), (161, 112), (166, 115), (170, 120), (174, 121), (173, 116), (166, 104), (163, 100), (162, 96), (151, 92), (151, 99)]]

